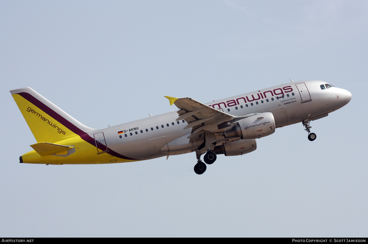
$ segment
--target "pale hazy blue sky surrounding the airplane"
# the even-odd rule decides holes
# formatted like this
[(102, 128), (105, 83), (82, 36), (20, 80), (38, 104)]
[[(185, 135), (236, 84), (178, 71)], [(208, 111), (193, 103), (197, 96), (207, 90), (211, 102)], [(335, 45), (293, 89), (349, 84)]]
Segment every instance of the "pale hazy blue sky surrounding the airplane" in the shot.
[[(366, 1), (1, 1), (0, 236), (361, 237), (368, 229)], [(352, 93), (204, 175), (195, 154), (19, 164), (36, 142), (9, 90), (92, 128), (297, 80)], [(6, 140), (5, 140), (6, 139)]]

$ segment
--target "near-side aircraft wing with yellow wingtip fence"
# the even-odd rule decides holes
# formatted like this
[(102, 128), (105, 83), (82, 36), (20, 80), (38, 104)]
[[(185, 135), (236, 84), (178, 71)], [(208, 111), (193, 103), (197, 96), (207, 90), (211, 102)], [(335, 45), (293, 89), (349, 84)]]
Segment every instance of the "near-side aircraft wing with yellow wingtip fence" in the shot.
[(231, 128), (230, 123), (226, 122), (236, 118), (236, 116), (211, 108), (189, 97), (165, 97), (169, 99), (170, 105), (175, 104), (180, 109), (178, 111), (179, 117), (176, 120), (184, 119), (188, 123), (184, 129), (193, 128), (188, 138), (199, 136), (204, 132), (225, 131)]

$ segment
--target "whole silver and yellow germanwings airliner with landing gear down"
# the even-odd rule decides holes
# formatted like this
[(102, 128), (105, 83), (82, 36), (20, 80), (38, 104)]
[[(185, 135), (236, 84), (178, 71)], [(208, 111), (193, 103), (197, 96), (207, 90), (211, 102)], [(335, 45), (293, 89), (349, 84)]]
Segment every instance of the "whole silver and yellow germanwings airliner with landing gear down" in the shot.
[(201, 175), (217, 154), (250, 153), (276, 128), (302, 122), (314, 141), (310, 122), (346, 105), (351, 93), (320, 80), (290, 81), (205, 104), (165, 96), (178, 110), (104, 129), (82, 125), (29, 87), (11, 90), (37, 141), (20, 163), (109, 164), (195, 152)]

